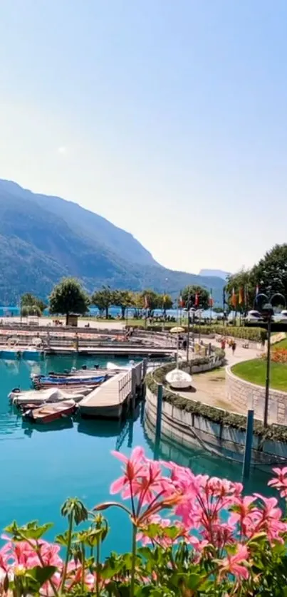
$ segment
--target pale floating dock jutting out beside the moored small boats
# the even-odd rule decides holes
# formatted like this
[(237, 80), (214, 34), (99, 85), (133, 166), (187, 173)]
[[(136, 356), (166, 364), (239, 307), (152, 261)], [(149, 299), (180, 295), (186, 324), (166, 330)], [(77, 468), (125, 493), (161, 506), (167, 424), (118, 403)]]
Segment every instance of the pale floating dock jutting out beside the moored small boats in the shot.
[(143, 363), (137, 363), (130, 370), (116, 373), (113, 378), (95, 388), (78, 404), (80, 415), (120, 419), (126, 403), (135, 399), (145, 371)]

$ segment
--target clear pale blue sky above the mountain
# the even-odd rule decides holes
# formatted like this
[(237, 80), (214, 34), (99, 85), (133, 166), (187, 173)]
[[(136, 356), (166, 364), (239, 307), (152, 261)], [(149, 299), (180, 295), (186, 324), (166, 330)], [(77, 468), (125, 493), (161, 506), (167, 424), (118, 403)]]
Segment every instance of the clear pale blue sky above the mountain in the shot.
[(0, 51), (0, 177), (174, 269), (287, 241), (286, 0), (7, 0)]

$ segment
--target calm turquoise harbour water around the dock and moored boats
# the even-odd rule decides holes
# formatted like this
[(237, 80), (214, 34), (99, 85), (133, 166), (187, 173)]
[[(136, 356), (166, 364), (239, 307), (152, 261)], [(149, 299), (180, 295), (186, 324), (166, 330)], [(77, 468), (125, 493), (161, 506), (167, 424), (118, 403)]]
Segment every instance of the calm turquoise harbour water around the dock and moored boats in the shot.
[[(128, 454), (132, 447), (142, 445), (153, 457), (153, 430), (145, 424), (144, 404), (140, 404), (135, 420), (124, 427), (118, 422), (75, 420), (70, 427), (33, 427), (23, 422), (9, 405), (9, 391), (20, 386), (30, 387), (31, 372), (41, 369), (63, 370), (83, 363), (104, 364), (100, 358), (51, 357), (41, 363), (25, 360), (0, 360), (0, 531), (12, 519), (19, 523), (31, 519), (54, 521), (54, 534), (66, 526), (60, 507), (68, 496), (78, 496), (88, 507), (109, 499), (110, 483), (120, 476), (120, 462), (110, 450)], [(124, 363), (117, 360), (118, 364)], [(221, 458), (209, 457), (202, 450), (182, 450), (174, 442), (162, 441), (160, 458), (172, 459), (191, 467), (194, 472), (207, 472), (219, 477), (241, 479), (241, 467)], [(268, 475), (256, 472), (247, 491), (266, 493)], [(130, 546), (130, 527), (123, 512), (108, 511), (112, 531), (105, 543), (104, 554), (110, 549), (126, 550)]]

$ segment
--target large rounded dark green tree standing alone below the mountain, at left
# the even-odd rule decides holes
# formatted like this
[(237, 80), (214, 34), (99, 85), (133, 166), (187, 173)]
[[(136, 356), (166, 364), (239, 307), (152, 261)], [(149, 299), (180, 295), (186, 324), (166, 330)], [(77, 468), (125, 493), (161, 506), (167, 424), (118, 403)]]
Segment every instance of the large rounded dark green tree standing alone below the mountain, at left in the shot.
[(63, 278), (59, 284), (54, 286), (49, 296), (49, 311), (53, 315), (66, 315), (66, 325), (68, 316), (72, 313), (85, 315), (88, 311), (90, 298), (85, 293), (80, 282), (75, 278)]

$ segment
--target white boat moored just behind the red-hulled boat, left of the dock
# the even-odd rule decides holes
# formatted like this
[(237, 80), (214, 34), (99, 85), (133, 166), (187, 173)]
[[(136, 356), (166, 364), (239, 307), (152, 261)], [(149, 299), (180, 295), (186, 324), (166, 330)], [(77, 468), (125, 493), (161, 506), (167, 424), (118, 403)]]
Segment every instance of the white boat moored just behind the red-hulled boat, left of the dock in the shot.
[(46, 390), (24, 390), (21, 392), (17, 389), (12, 390), (9, 394), (9, 400), (13, 404), (43, 404), (56, 403), (63, 400), (74, 400), (80, 402), (85, 396), (85, 393), (63, 392), (58, 388), (47, 388)]

